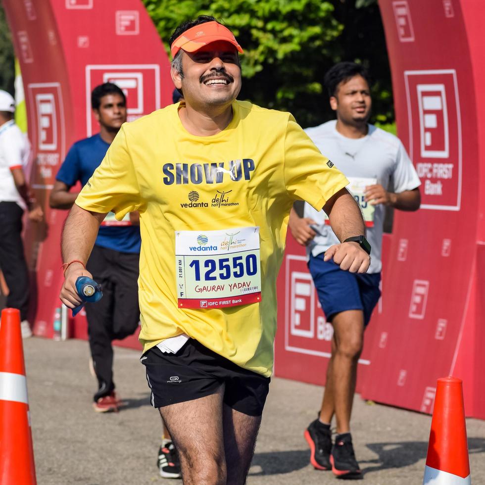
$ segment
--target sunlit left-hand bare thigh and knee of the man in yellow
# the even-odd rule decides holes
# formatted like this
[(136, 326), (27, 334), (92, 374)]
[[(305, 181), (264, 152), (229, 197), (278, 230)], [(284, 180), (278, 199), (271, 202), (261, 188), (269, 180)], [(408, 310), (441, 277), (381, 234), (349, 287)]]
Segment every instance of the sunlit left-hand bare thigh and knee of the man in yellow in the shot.
[(158, 408), (180, 459), (184, 485), (226, 485), (224, 386), (215, 394)]

